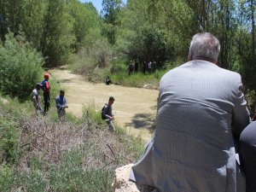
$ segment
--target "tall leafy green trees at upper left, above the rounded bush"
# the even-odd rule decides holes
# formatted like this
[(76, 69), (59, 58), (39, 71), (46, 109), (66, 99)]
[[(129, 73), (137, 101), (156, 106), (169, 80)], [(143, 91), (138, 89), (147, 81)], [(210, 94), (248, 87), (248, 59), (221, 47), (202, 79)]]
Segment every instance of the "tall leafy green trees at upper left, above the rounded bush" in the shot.
[(8, 28), (42, 52), (46, 66), (65, 64), (85, 44), (90, 28), (99, 25), (91, 3), (78, 0), (3, 0), (0, 3), (0, 37)]

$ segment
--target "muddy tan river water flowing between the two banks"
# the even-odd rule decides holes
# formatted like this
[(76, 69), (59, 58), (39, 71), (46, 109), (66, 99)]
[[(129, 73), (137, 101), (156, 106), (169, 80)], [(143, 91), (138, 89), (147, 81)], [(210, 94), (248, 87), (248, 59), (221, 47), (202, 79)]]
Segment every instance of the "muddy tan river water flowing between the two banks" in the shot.
[(148, 141), (154, 132), (158, 90), (123, 87), (115, 84), (93, 84), (68, 70), (51, 70), (52, 78), (66, 90), (67, 112), (81, 117), (83, 105), (90, 102), (102, 109), (108, 97), (113, 96), (113, 114), (117, 124), (134, 136)]

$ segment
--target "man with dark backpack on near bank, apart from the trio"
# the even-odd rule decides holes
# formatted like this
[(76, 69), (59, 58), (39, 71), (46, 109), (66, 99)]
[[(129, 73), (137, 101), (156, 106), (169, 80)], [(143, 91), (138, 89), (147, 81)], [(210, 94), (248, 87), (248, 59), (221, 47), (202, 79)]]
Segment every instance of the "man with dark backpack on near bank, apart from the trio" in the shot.
[(106, 120), (108, 123), (109, 131), (114, 131), (113, 127), (113, 120), (114, 116), (112, 113), (112, 105), (114, 102), (113, 96), (110, 96), (108, 99), (108, 103), (105, 103), (104, 107), (102, 108), (102, 119)]

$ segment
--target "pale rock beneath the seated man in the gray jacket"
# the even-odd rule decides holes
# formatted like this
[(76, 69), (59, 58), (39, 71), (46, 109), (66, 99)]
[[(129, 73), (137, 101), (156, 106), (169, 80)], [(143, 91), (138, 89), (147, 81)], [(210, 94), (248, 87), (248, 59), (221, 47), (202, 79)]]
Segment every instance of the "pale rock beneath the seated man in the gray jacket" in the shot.
[(114, 192), (157, 192), (156, 189), (146, 185), (138, 185), (129, 181), (131, 166), (133, 164), (121, 166), (115, 170), (115, 179), (112, 183)]

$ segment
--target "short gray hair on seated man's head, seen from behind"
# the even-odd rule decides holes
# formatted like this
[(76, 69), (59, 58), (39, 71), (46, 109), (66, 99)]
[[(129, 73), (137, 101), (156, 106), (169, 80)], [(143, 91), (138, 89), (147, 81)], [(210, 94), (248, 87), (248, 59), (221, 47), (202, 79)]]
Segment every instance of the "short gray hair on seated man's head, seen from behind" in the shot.
[(205, 58), (218, 61), (219, 51), (220, 45), (218, 38), (215, 38), (211, 32), (195, 34), (189, 48), (189, 54), (192, 55), (192, 59)]

